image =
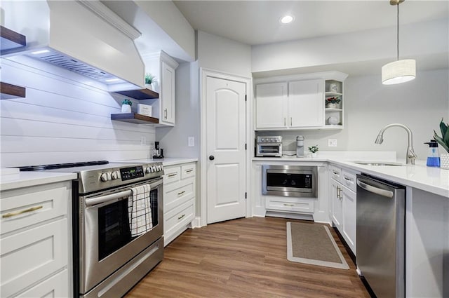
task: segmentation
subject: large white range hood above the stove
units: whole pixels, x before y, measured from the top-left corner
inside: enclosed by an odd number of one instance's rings
[[[2,1],[4,27],[27,36],[27,55],[105,84],[105,89],[144,88],[145,65],[133,42],[141,34],[100,1]]]

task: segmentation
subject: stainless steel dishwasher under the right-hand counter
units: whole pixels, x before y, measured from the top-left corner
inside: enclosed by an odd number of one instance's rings
[[[377,298],[405,297],[406,189],[357,175],[356,264]]]

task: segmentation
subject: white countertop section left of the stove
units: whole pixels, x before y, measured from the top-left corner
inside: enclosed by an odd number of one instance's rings
[[[78,176],[72,172],[19,172],[18,174],[1,175],[0,191],[74,180],[76,177]]]

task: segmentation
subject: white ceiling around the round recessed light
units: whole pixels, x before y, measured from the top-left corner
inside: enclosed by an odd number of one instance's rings
[[[396,25],[396,6],[376,1],[173,1],[194,29],[249,45]],[[295,20],[279,22],[283,15]],[[408,0],[400,24],[448,18],[449,1]]]

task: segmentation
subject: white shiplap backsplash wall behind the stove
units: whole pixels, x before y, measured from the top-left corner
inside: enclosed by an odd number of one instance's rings
[[[87,80],[31,58],[1,59],[1,81],[27,88],[27,97],[0,101],[0,166],[149,157],[154,126],[111,121],[123,95]]]

